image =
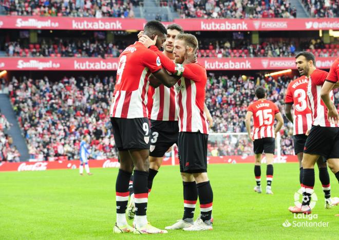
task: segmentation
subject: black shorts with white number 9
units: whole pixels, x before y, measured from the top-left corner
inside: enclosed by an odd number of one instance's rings
[[[119,151],[149,149],[150,129],[147,118],[110,118],[110,122]]]

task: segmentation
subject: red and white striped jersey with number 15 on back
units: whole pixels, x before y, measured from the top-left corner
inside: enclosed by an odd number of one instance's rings
[[[247,110],[253,113],[252,138],[274,138],[274,118],[279,113],[279,108],[269,100],[258,100],[252,103]]]

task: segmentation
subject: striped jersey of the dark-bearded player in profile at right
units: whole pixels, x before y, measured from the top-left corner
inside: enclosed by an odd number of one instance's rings
[[[307,96],[313,114],[313,125],[339,127],[339,124],[334,124],[328,121],[328,109],[321,98],[321,89],[327,78],[328,72],[315,69],[309,77]],[[330,91],[331,101],[334,102],[333,91]]]

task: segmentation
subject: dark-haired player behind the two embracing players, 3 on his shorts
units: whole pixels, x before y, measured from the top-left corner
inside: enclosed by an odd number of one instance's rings
[[[168,59],[175,60],[173,53],[174,41],[176,36],[180,33],[183,33],[183,29],[178,24],[171,24],[167,26],[167,38],[163,45],[163,53],[166,57],[168,57]],[[142,34],[143,32],[141,31],[138,36],[141,37]],[[153,76],[150,78],[153,78]],[[151,125],[150,130],[152,133],[149,149],[148,192],[150,192],[152,189],[154,177],[158,173],[165,152],[168,151],[168,149],[170,149],[173,144],[178,145],[179,135],[178,103],[176,100],[178,94],[175,90],[175,86],[168,88],[160,82],[158,82],[158,84],[159,87],[149,87],[151,92],[150,94],[154,100],[153,102],[149,101],[149,103],[152,105],[148,105],[151,112],[149,118]],[[206,105],[204,105],[204,113],[206,114],[209,121],[209,126],[211,127],[213,124],[213,119]],[[186,195],[185,192],[187,191],[197,192],[195,181],[185,184],[183,189],[184,196]],[[196,200],[198,198],[198,193],[193,198]],[[131,202],[129,202],[127,207],[127,215],[129,214],[129,209],[133,210],[133,204]],[[190,220],[184,217],[183,220]]]

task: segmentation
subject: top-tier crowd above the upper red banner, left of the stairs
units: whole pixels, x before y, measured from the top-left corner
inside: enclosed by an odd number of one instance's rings
[[[133,5],[138,0],[4,0],[8,15],[134,17]]]

